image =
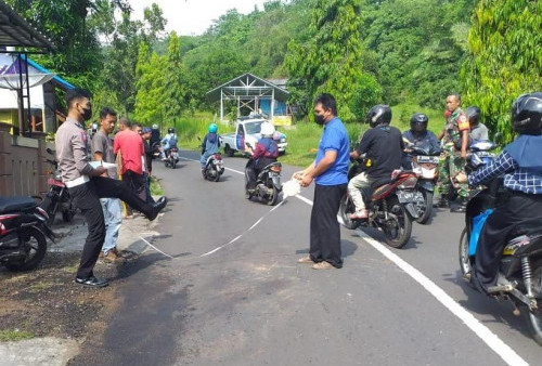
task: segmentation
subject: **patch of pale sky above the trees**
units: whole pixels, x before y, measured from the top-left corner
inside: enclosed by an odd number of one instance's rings
[[[263,10],[268,0],[130,0],[133,9],[132,18],[143,18],[143,9],[154,2],[163,11],[168,21],[166,30],[177,31],[179,36],[199,36],[220,15],[230,9],[236,9],[242,14],[248,14],[257,5]]]

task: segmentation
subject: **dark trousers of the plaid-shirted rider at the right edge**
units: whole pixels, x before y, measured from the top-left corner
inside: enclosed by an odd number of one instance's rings
[[[514,194],[498,205],[486,221],[476,248],[475,273],[482,290],[495,285],[503,248],[511,235],[518,227],[521,233],[540,227],[541,222],[542,195]]]

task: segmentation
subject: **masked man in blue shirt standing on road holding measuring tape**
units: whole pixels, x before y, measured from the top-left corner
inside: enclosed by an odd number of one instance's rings
[[[301,186],[315,183],[310,218],[309,256],[298,263],[310,263],[314,270],[340,269],[340,226],[337,212],[346,194],[350,143],[345,126],[337,117],[337,104],[331,94],[314,100],[314,120],[324,125],[315,160],[294,174]]]

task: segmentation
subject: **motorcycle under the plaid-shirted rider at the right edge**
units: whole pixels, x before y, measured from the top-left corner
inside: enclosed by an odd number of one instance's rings
[[[495,180],[490,187],[476,194],[467,204],[465,228],[460,238],[460,267],[463,278],[470,282],[473,265],[476,263],[476,244],[470,243],[474,219],[488,213],[495,202],[503,199],[501,181]],[[499,263],[500,276],[506,284],[492,286],[488,292],[496,300],[509,300],[514,314],[518,308],[525,309],[529,329],[534,341],[542,345],[542,230],[518,227],[514,237],[508,238]]]

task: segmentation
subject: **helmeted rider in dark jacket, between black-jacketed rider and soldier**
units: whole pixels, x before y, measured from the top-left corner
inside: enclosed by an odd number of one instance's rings
[[[410,130],[403,132],[403,141],[409,142],[414,146],[421,146],[428,151],[429,154],[437,154],[440,152],[440,144],[431,131],[427,130],[427,125],[429,123],[429,118],[423,113],[415,113],[410,118]],[[404,154],[403,167],[405,169],[412,169],[412,156],[409,153],[409,147],[406,146]]]

